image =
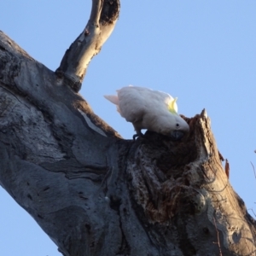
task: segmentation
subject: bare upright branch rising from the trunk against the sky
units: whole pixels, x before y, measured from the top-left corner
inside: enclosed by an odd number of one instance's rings
[[[119,17],[119,0],[92,0],[90,20],[67,49],[55,71],[63,82],[79,91],[90,60],[102,49]]]

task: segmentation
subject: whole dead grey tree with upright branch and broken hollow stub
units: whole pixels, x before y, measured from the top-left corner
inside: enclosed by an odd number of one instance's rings
[[[255,255],[203,111],[181,142],[125,141],[77,91],[119,1],[93,1],[56,73],[0,32],[0,184],[65,256]]]

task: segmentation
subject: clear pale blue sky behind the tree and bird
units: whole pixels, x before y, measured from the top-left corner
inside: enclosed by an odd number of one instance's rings
[[[55,70],[84,29],[90,4],[3,1],[0,30]],[[255,0],[123,0],[117,26],[91,61],[80,91],[96,114],[129,139],[132,125],[103,98],[125,85],[177,96],[179,113],[188,117],[206,108],[218,149],[230,161],[230,183],[254,212],[256,179],[250,161],[256,168],[255,12]],[[1,255],[61,255],[1,187],[0,201]]]

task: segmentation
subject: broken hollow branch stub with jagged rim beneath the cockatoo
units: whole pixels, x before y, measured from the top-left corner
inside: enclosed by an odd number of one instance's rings
[[[153,244],[177,241],[183,255],[254,255],[255,222],[230,185],[206,111],[186,121],[189,137],[180,142],[147,131],[131,146],[126,172],[137,215]]]

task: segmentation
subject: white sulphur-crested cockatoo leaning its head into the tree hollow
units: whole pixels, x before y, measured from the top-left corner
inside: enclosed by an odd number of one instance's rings
[[[133,138],[143,136],[142,129],[155,131],[176,140],[189,132],[189,125],[177,113],[177,98],[144,87],[126,86],[116,95],[104,96],[117,106],[117,111],[131,122],[137,132]]]

